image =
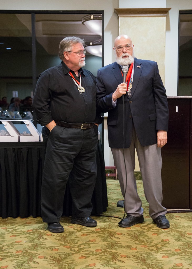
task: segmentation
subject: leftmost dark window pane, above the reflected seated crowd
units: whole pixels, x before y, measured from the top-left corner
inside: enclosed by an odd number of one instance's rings
[[[0,59],[0,99],[31,96],[31,14],[0,14]]]

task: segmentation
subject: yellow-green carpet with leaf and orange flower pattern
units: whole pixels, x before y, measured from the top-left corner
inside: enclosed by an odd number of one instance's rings
[[[148,215],[142,180],[137,180],[144,222],[118,226],[124,209],[119,182],[107,179],[108,210],[93,216],[97,227],[70,223],[64,233],[51,233],[40,217],[0,218],[0,268],[8,269],[191,269],[192,213],[167,214],[169,229],[159,229]]]

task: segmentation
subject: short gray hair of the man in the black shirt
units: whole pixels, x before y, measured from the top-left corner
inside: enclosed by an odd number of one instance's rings
[[[72,46],[77,43],[81,43],[84,46],[84,39],[81,39],[76,36],[69,36],[63,38],[63,40],[61,40],[59,44],[59,58],[63,60],[64,58],[63,52],[70,51],[72,49]]]

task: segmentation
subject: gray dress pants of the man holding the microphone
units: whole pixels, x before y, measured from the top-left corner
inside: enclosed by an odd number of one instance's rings
[[[167,213],[167,209],[161,205],[161,149],[157,147],[157,144],[145,147],[141,146],[134,126],[131,145],[129,148],[111,148],[123,197],[125,194],[125,212],[129,215],[133,215],[134,217],[139,217],[143,214],[141,199],[137,193],[136,178],[134,175],[135,149],[137,151],[141,170],[145,198],[149,203],[149,214],[152,219],[155,219],[159,215]]]

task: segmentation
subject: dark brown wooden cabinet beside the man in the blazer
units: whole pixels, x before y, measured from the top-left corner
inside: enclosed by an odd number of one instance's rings
[[[192,97],[168,97],[168,143],[162,153],[163,206],[192,211]]]

